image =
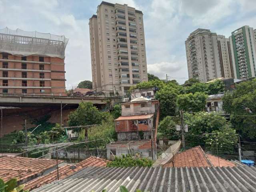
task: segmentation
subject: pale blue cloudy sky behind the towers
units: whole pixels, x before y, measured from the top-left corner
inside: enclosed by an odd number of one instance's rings
[[[65,35],[66,87],[92,80],[89,18],[100,0],[0,0],[0,28]],[[108,0],[144,14],[148,73],[161,79],[188,79],[185,40],[197,28],[231,35],[256,28],[256,0]]]

